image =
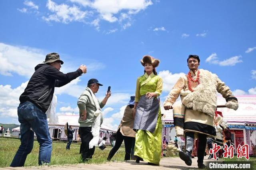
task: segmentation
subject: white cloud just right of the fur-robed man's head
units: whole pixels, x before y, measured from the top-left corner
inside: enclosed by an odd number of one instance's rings
[[[242,63],[242,58],[241,55],[236,55],[234,57],[230,57],[228,59],[225,59],[223,61],[219,61],[217,54],[216,53],[212,53],[205,61],[206,63],[210,63],[210,64],[217,64],[220,66],[234,66],[236,65],[236,63]]]

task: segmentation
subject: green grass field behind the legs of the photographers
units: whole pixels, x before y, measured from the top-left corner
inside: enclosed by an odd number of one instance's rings
[[[20,140],[16,138],[0,137],[0,167],[10,166],[18,147],[20,146]],[[103,163],[106,162],[108,153],[111,150],[111,146],[108,146],[104,150],[100,150],[96,147],[92,160],[88,163]],[[81,163],[79,154],[80,144],[72,143],[70,150],[66,150],[65,142],[53,142],[52,143],[52,158],[51,164],[77,164]],[[36,166],[38,165],[38,153],[39,144],[35,140],[34,148],[26,159],[24,166]],[[120,147],[118,152],[114,155],[112,160],[122,161],[124,160],[124,147]]]

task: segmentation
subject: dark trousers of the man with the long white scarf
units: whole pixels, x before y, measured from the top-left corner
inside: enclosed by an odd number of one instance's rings
[[[92,158],[92,155],[95,151],[95,146],[89,149],[89,142],[92,140],[92,127],[80,127],[80,138],[82,140],[81,151],[82,151],[82,160],[87,161]]]

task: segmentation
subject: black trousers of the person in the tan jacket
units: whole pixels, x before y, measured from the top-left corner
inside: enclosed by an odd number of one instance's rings
[[[123,136],[120,130],[116,132],[116,144],[115,146],[110,150],[108,154],[108,160],[111,160],[111,158],[114,156],[116,151],[120,148],[122,142],[124,141],[124,146],[125,146],[125,156],[124,160],[130,160],[131,159],[131,150],[132,150],[132,145],[135,143],[135,138],[130,137],[130,136]]]

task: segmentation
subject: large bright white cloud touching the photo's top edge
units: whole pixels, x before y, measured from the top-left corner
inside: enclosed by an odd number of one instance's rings
[[[88,20],[93,20],[90,24],[94,25],[98,31],[100,20],[106,20],[110,23],[118,21],[125,30],[132,24],[132,15],[153,4],[151,0],[69,0],[69,2],[79,4],[81,8],[89,11],[83,11],[74,4],[71,7],[68,4],[58,5],[52,0],[48,0],[46,6],[52,14],[42,18],[48,22],[55,21],[67,24],[72,21],[85,22],[84,19],[88,17]]]

